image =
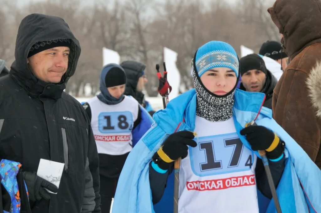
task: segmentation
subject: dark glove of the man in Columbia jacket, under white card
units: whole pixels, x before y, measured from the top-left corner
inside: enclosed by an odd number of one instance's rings
[[[58,188],[54,184],[39,177],[36,172],[24,171],[23,178],[27,185],[29,200],[33,202],[41,200],[41,198],[50,199],[50,193],[45,188],[54,193],[58,192]]]

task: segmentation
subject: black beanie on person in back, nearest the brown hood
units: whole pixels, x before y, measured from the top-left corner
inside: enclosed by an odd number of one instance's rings
[[[282,45],[277,41],[266,41],[262,44],[262,47],[259,51],[260,55],[264,55],[272,58],[273,60],[282,59],[288,57],[286,53],[283,51],[282,54]]]

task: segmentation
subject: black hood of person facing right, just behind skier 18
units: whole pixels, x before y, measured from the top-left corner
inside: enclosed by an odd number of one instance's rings
[[[142,99],[139,98],[141,95],[138,94],[136,91],[138,79],[142,76],[143,71],[146,68],[145,64],[139,63],[137,61],[124,61],[120,64],[126,72],[127,82],[126,82],[126,89],[125,95],[133,96],[136,100]],[[138,97],[139,96],[139,97]],[[141,101],[137,100],[140,104]]]

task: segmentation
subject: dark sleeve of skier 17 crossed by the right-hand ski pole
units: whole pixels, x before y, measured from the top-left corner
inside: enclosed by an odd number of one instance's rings
[[[277,185],[279,184],[280,179],[282,177],[282,173],[284,170],[284,161],[285,161],[284,156],[281,160],[279,160],[277,162],[273,162],[273,161],[269,160],[269,167],[271,170],[273,183],[274,183],[275,187],[277,187]],[[267,180],[265,168],[264,168],[263,162],[260,158],[257,158],[256,167],[255,167],[255,175],[256,175],[257,189],[260,190],[260,192],[262,192],[262,194],[265,197],[272,199],[272,192],[270,190],[269,182]]]

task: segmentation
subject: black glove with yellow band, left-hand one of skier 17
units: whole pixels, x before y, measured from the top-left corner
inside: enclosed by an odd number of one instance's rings
[[[164,141],[160,149],[154,154],[153,161],[161,169],[168,169],[171,162],[178,158],[186,158],[188,146],[196,147],[197,143],[193,141],[193,132],[181,131],[175,132]]]

